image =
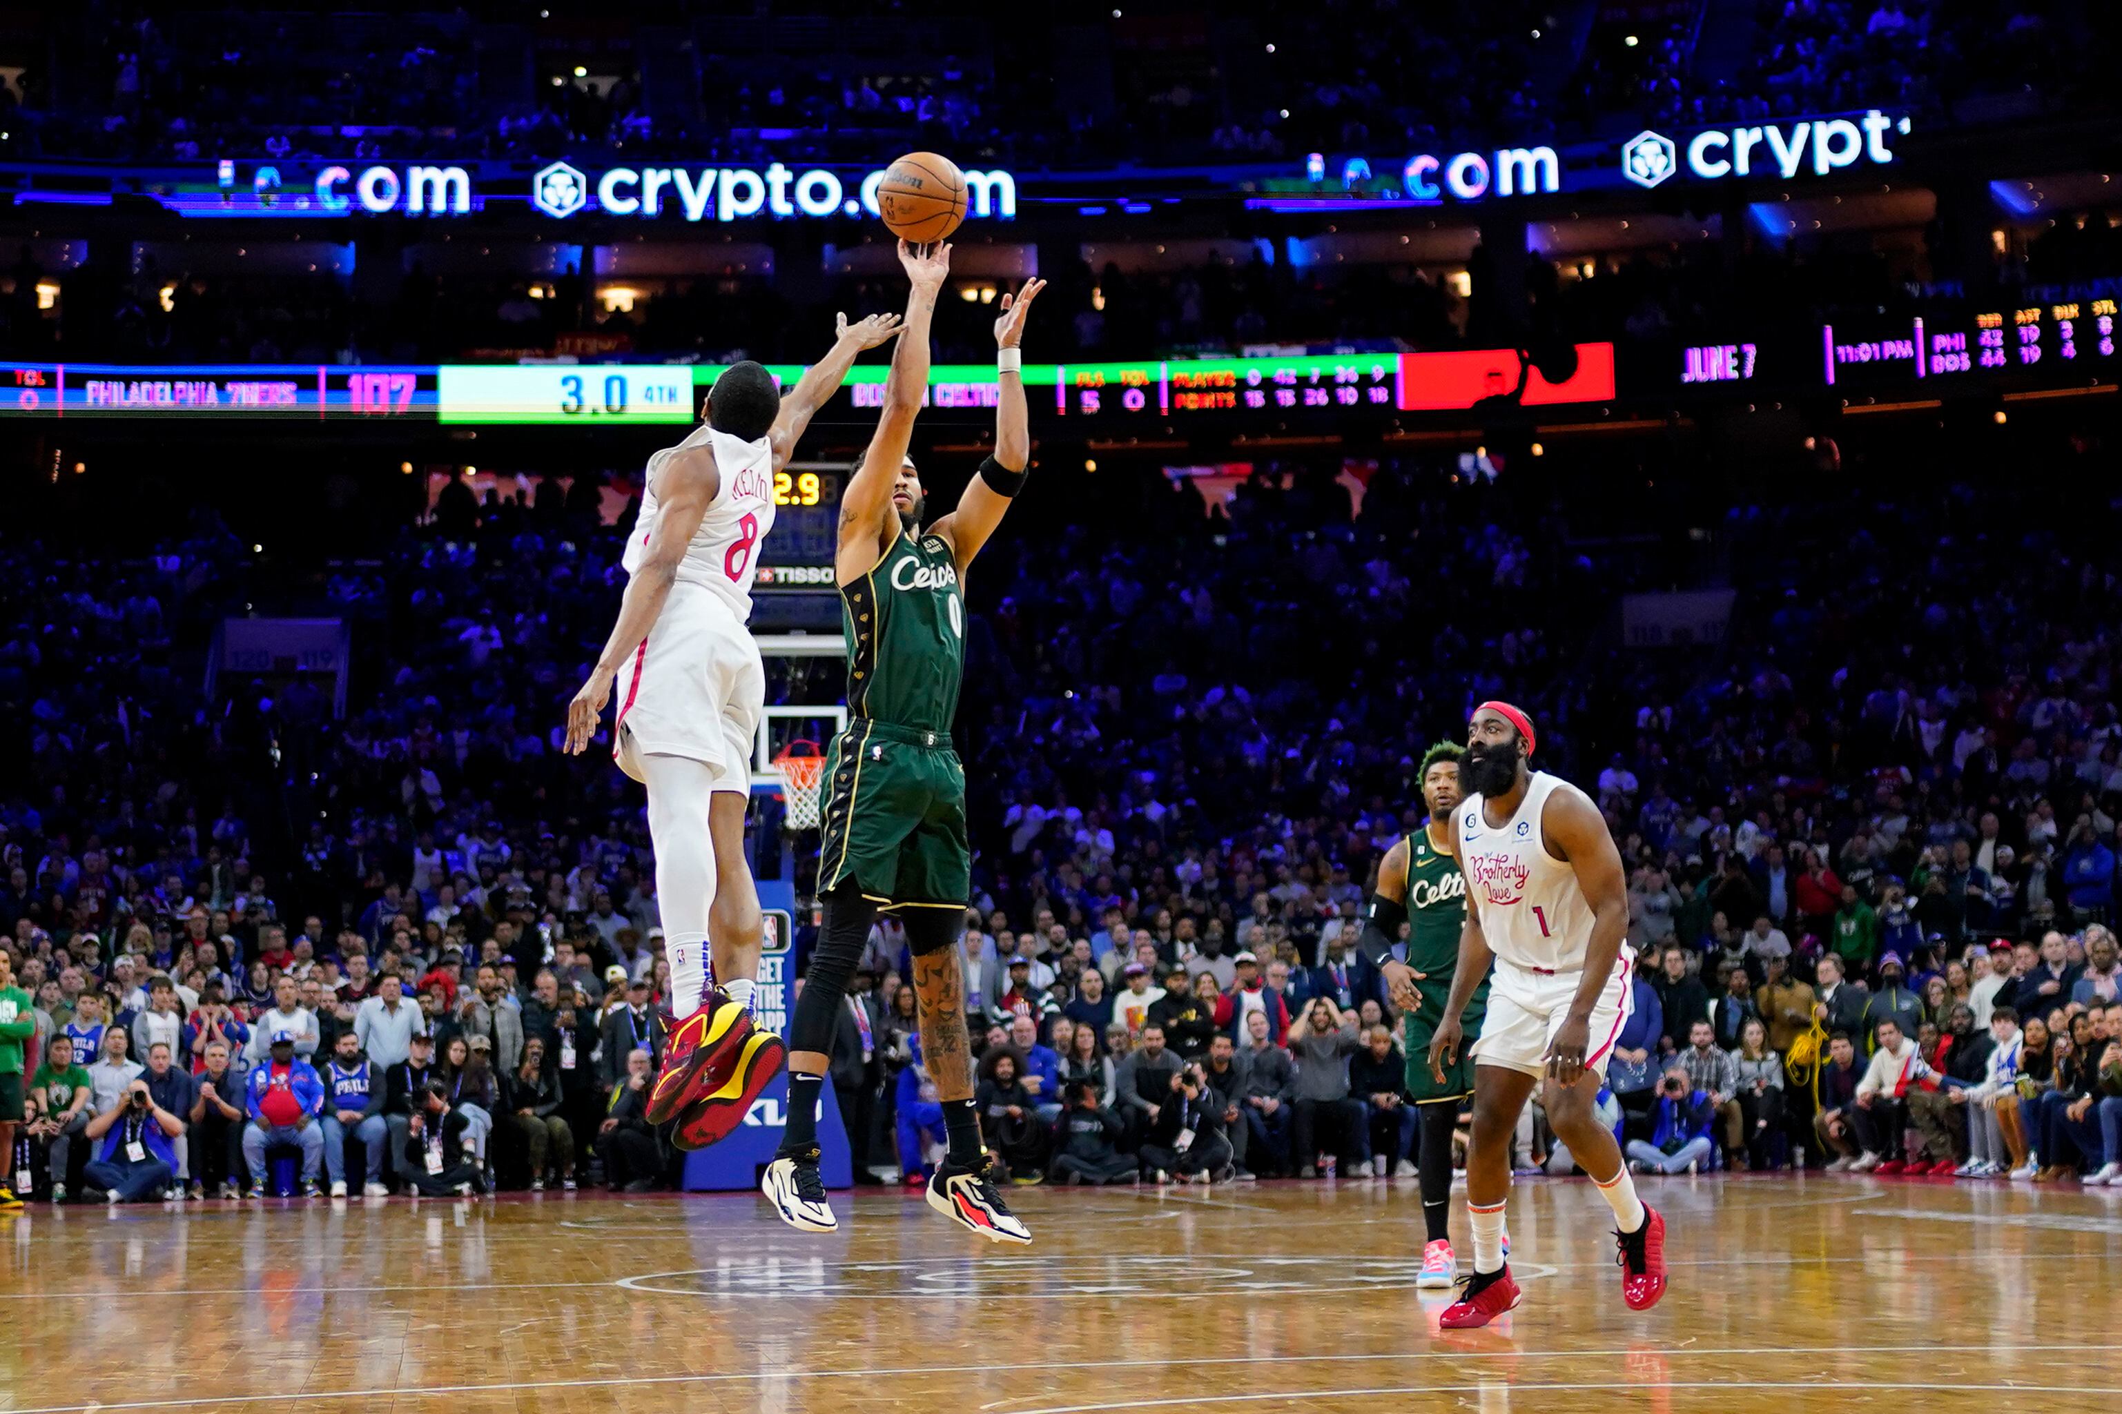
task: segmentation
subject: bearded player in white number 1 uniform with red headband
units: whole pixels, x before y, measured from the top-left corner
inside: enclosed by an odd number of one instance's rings
[[[1458,1060],[1464,1011],[1490,960],[1496,965],[1481,1039],[1471,1047],[1473,1274],[1439,1316],[1447,1329],[1488,1325],[1517,1306],[1517,1283],[1502,1255],[1511,1132],[1543,1077],[1547,1124],[1613,1208],[1621,1300],[1630,1310],[1649,1310],[1666,1293],[1666,1219],[1636,1198],[1621,1147],[1592,1109],[1632,1009],[1636,950],[1623,939],[1621,852],[1592,797],[1532,770],[1534,740],[1532,721],[1515,706],[1475,708],[1464,759],[1473,793],[1449,814],[1445,831],[1466,873],[1468,907],[1451,994],[1430,1035],[1430,1075],[1439,1085]]]

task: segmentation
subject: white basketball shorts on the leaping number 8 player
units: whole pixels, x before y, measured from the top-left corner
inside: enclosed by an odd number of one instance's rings
[[[615,689],[611,755],[622,772],[645,782],[641,757],[690,757],[715,772],[715,791],[751,791],[766,668],[751,632],[711,589],[671,585]]]

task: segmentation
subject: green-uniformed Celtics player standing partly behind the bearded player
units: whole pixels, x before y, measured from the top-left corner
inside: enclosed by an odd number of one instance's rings
[[[1445,1013],[1458,967],[1460,933],[1466,924],[1466,876],[1451,856],[1451,810],[1460,803],[1460,759],[1466,748],[1439,742],[1422,755],[1422,801],[1428,823],[1386,850],[1377,865],[1362,929],[1364,958],[1386,977],[1392,1005],[1401,1009],[1407,1035],[1407,1092],[1422,1117],[1415,1164],[1422,1170],[1422,1249],[1417,1287],[1449,1287],[1458,1278],[1451,1253],[1451,1132],[1458,1107],[1473,1094],[1473,1060],[1456,1058],[1443,1079],[1430,1075],[1430,1032]],[[1394,960],[1392,943],[1407,931],[1407,960]],[[1462,1026],[1479,1028],[1488,1005],[1488,977],[1466,1001]]]

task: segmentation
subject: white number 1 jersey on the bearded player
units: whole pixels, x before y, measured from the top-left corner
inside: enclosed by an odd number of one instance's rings
[[[1547,852],[1541,812],[1547,797],[1577,786],[1534,772],[1517,814],[1500,827],[1483,818],[1479,795],[1458,808],[1460,867],[1466,901],[1479,909],[1481,935],[1504,962],[1547,973],[1583,971],[1592,941],[1592,905],[1577,871]]]

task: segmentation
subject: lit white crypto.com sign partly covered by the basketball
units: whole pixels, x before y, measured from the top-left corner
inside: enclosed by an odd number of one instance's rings
[[[876,216],[876,184],[885,172],[866,174],[849,189],[838,172],[792,172],[779,161],[755,167],[605,167],[592,178],[569,161],[554,161],[530,178],[530,206],[554,218],[596,210],[607,216],[683,220],[749,220],[770,216]],[[1008,172],[966,174],[966,214],[1016,216],[1016,178]]]

